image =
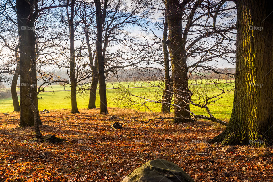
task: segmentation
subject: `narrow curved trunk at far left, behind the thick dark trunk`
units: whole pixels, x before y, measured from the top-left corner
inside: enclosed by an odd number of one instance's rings
[[[18,50],[19,44],[16,47],[16,50]],[[20,105],[18,101],[17,96],[17,81],[20,74],[20,57],[18,56],[18,53],[15,51],[15,59],[16,59],[16,70],[14,72],[12,81],[11,81],[11,97],[13,102],[13,110],[14,111],[20,111]]]

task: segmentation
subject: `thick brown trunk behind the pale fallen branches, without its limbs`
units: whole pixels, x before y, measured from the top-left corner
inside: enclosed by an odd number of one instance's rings
[[[182,8],[177,0],[166,0],[167,20],[169,26],[169,52],[171,57],[172,78],[174,88],[174,117],[173,123],[189,122],[191,115],[183,110],[190,110],[190,91],[188,88],[188,67],[182,36]],[[179,107],[178,107],[179,106]],[[181,108],[182,109],[181,109]]]

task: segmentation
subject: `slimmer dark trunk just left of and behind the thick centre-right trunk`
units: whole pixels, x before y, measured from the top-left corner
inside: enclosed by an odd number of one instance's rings
[[[169,66],[169,52],[167,49],[167,33],[168,33],[168,19],[167,19],[167,13],[165,11],[165,22],[164,22],[164,28],[163,28],[163,38],[162,38],[162,48],[163,48],[163,54],[164,54],[164,72],[165,72],[165,89],[162,96],[162,106],[161,106],[161,112],[162,113],[170,113],[171,112],[171,103],[172,100],[172,93],[171,93],[171,78],[170,78],[170,66]]]

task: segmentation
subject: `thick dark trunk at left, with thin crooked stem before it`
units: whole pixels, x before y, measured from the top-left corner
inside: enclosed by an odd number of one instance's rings
[[[31,103],[28,99],[28,88],[30,87],[30,79],[33,80],[32,100],[38,110],[38,98],[37,98],[37,75],[36,75],[36,63],[31,65],[32,73],[29,75],[30,61],[36,57],[35,52],[35,32],[34,32],[34,20],[30,5],[27,1],[16,0],[17,8],[17,22],[19,32],[19,50],[20,53],[20,126],[34,126],[34,114],[31,109]],[[40,115],[36,116],[38,123],[42,124]]]

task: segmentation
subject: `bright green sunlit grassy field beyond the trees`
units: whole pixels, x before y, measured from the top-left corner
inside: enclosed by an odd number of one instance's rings
[[[229,80],[231,81],[231,80]],[[229,82],[228,81],[228,82]],[[232,80],[233,81],[233,80]],[[225,82],[225,81],[224,81]],[[155,83],[158,84],[158,83]],[[226,89],[231,89],[232,85],[234,83],[229,83],[229,84],[220,84],[222,88]],[[127,83],[122,83],[123,86],[128,87]],[[115,87],[118,87],[119,84],[115,84]],[[158,96],[157,89],[158,88],[141,88],[140,83],[136,84],[137,88],[128,88],[128,90],[136,95],[145,95],[146,97],[151,97],[151,98],[160,98]],[[142,86],[147,86],[145,84],[142,84]],[[149,85],[151,86],[151,85]],[[134,84],[131,83],[129,84],[129,87],[134,87]],[[119,98],[122,98],[123,95],[121,93],[118,93],[120,89],[111,89],[113,86],[111,84],[107,84],[107,103],[108,107],[123,107],[121,104],[117,104],[117,100]],[[39,99],[38,104],[39,104],[39,110],[47,109],[47,110],[54,110],[54,109],[69,109],[71,108],[71,102],[70,102],[70,88],[66,87],[64,91],[64,88],[60,85],[52,85],[51,87],[45,88],[46,92],[41,92],[39,94],[39,97],[43,97],[44,99]],[[203,84],[203,81],[198,81],[192,84],[191,89],[194,89],[197,94],[196,96],[193,97],[193,100],[199,100],[202,99],[202,94],[206,90],[208,92],[209,96],[216,95],[219,92],[215,88],[214,85],[205,85]],[[54,90],[54,92],[53,92]],[[79,109],[84,109],[87,108],[88,106],[88,100],[89,100],[89,94],[82,94],[81,96],[79,95],[77,97],[77,103],[78,103],[78,108]],[[229,121],[231,111],[232,111],[232,104],[233,104],[233,92],[228,92],[223,94],[223,98],[218,100],[215,103],[209,104],[210,111],[213,113],[213,115],[216,118],[222,119],[224,121]],[[153,112],[159,112],[161,109],[161,105],[157,103],[148,103],[146,104],[149,109],[151,109]],[[99,102],[99,93],[97,91],[97,99],[96,99],[96,106],[100,107],[100,102]],[[131,108],[133,109],[138,109],[140,105],[131,105]],[[191,106],[191,110],[194,111],[197,114],[206,114],[204,109],[200,109],[198,107],[193,107]],[[5,98],[5,99],[0,99],[0,112],[12,112],[13,111],[13,104],[12,104],[12,99],[11,98]],[[140,111],[146,111],[150,112],[147,108],[141,107]],[[206,114],[207,115],[207,114]]]

